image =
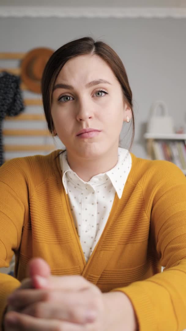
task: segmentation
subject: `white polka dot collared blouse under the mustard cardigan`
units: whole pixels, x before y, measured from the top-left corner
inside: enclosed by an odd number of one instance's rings
[[[116,166],[93,176],[89,182],[83,181],[70,168],[66,151],[59,159],[63,186],[87,262],[107,223],[115,194],[119,199],[122,196],[131,169],[130,152],[119,147]]]

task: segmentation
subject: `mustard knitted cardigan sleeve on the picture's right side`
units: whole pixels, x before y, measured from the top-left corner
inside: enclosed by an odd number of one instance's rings
[[[144,193],[150,235],[164,270],[113,289],[130,298],[142,331],[186,329],[186,178],[177,166],[164,165],[157,169],[161,180],[151,196]]]

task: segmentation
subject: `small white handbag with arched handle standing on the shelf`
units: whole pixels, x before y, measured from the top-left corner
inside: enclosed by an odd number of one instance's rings
[[[157,115],[158,108],[162,108],[162,114]],[[163,101],[156,101],[152,104],[150,118],[147,123],[147,132],[174,133],[173,118],[168,114],[167,105]]]

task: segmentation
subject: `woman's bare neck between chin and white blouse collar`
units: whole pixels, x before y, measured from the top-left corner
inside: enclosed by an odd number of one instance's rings
[[[88,182],[93,176],[99,173],[105,173],[106,171],[112,169],[118,162],[118,149],[112,153],[109,151],[96,158],[83,158],[71,155],[67,151],[67,161],[70,168],[77,173],[77,175]]]

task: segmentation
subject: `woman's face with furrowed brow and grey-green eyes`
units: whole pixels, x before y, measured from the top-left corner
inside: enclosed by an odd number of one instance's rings
[[[67,153],[89,159],[117,149],[123,121],[131,118],[118,80],[96,55],[67,61],[56,78],[51,114]],[[87,128],[92,132],[78,134]]]

